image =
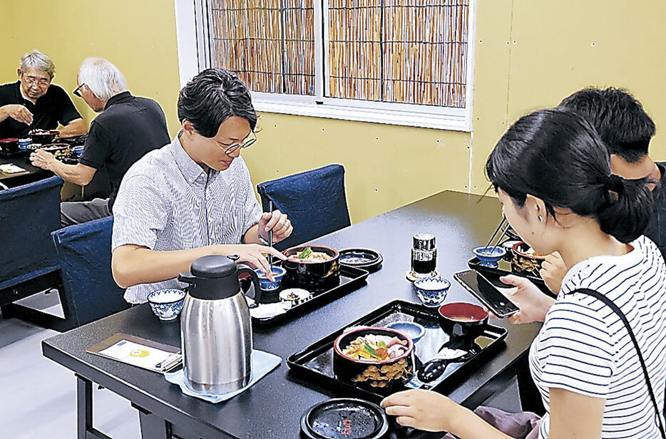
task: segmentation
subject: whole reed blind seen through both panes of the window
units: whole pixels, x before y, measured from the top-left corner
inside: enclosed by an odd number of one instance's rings
[[[208,0],[213,66],[253,91],[314,95],[314,1]],[[323,4],[324,96],[465,108],[469,0]]]

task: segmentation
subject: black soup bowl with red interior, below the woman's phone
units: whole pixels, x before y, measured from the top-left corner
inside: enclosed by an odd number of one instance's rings
[[[449,302],[439,307],[439,326],[452,339],[473,340],[488,325],[488,311],[468,302]]]

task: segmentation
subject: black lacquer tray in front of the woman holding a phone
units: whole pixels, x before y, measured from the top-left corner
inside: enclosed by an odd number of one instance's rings
[[[503,339],[506,338],[507,334],[506,329],[492,325],[486,326],[483,334],[474,340],[473,347],[470,346],[473,350],[473,355],[467,356],[466,361],[449,363],[444,373],[430,383],[422,383],[416,378],[416,374],[414,374],[414,378],[404,388],[391,388],[390,391],[384,392],[382,389],[370,391],[354,386],[351,383],[339,381],[333,373],[333,343],[335,339],[345,329],[352,326],[384,326],[392,321],[415,321],[426,329],[426,334],[415,344],[417,370],[421,364],[434,358],[442,347],[461,348],[462,350],[469,351],[469,348],[465,346],[453,346],[449,344],[449,334],[446,334],[441,329],[441,326],[439,326],[437,309],[396,300],[325,336],[302,351],[294,353],[287,358],[287,365],[291,368],[291,373],[297,374],[307,381],[312,381],[320,386],[331,388],[336,393],[339,393],[340,396],[353,395],[379,403],[388,394],[408,388],[437,388],[438,390],[446,388],[453,384],[457,377],[474,371],[479,362],[483,361],[483,358],[487,358],[494,349],[503,345]]]

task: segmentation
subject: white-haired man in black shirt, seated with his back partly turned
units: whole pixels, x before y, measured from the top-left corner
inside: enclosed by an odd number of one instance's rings
[[[77,165],[65,165],[51,153],[36,150],[31,154],[33,165],[51,170],[76,185],[88,185],[101,167],[108,170],[111,195],[103,200],[63,202],[63,226],[108,217],[118,194],[123,175],[145,153],[170,143],[166,119],[155,100],[130,94],[121,71],[103,58],[83,61],[74,91],[98,115]]]

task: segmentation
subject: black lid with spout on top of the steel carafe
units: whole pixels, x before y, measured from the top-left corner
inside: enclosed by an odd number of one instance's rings
[[[188,293],[195,299],[216,300],[235,296],[240,291],[236,263],[226,256],[210,254],[200,257],[181,273],[178,280],[187,282]]]

